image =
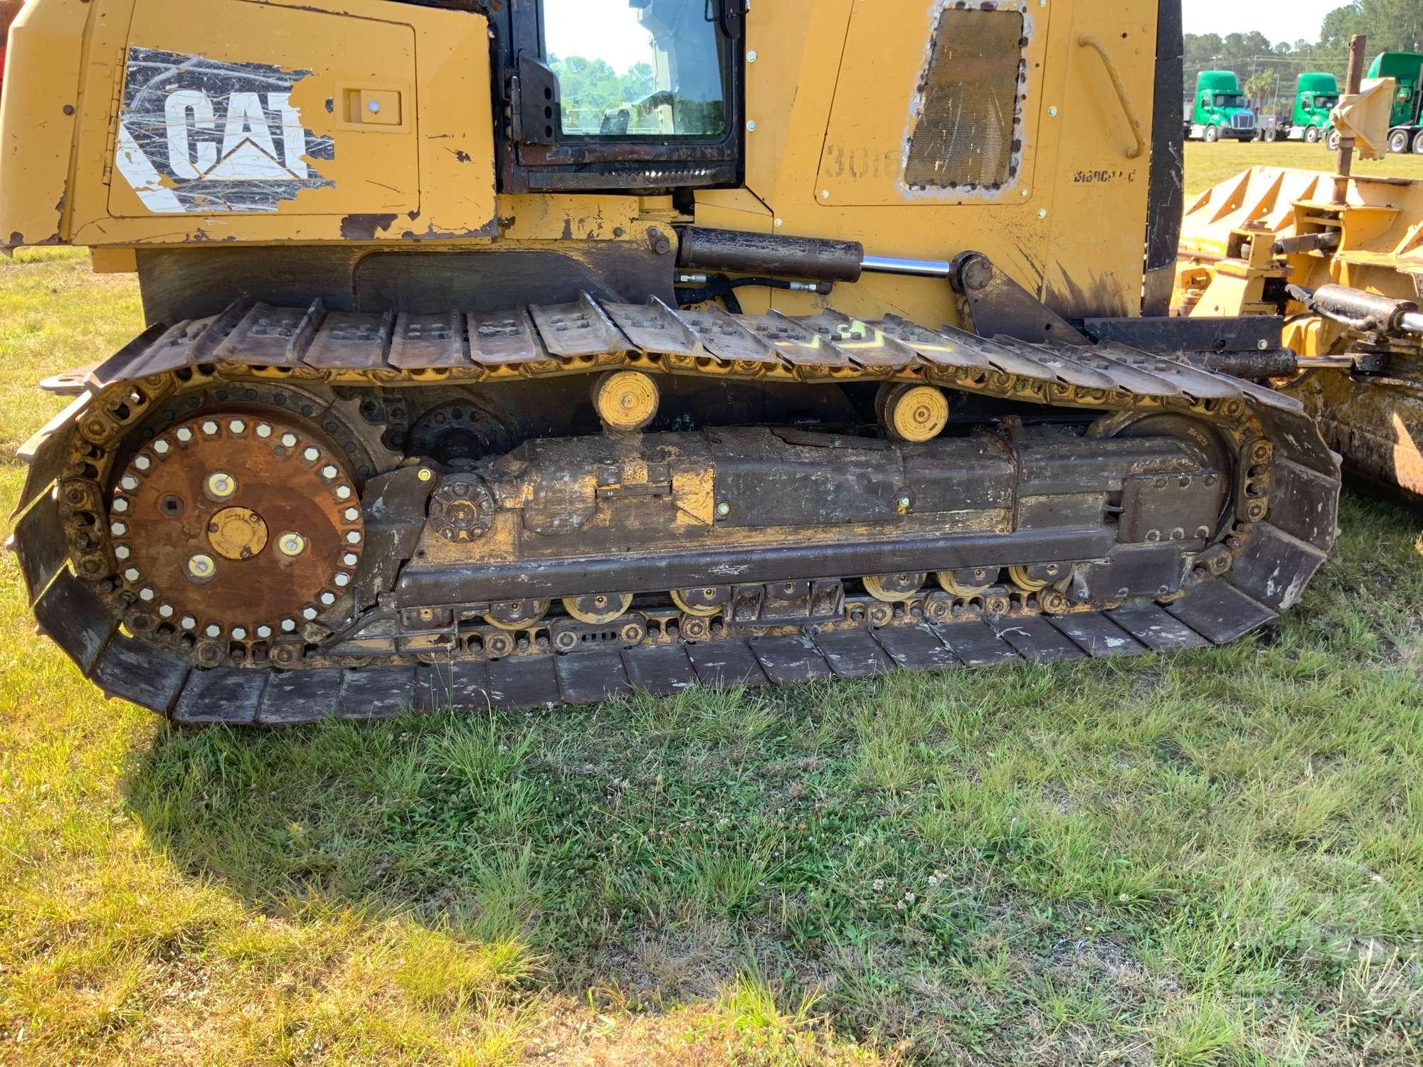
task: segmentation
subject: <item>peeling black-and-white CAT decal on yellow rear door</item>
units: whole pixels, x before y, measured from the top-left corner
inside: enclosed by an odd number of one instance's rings
[[[115,168],[155,215],[275,212],[302,189],[334,188],[336,158],[292,105],[309,70],[128,50]]]

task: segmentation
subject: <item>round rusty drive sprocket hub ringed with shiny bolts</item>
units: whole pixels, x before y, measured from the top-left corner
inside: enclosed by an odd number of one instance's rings
[[[120,596],[196,642],[297,635],[347,592],[364,551],[340,450],[248,411],[178,423],[120,474],[108,514]]]

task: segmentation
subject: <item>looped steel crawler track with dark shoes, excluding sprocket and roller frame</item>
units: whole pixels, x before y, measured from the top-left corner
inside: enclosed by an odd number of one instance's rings
[[[845,596],[831,625],[763,627],[702,627],[677,610],[649,610],[636,615],[638,633],[626,640],[569,653],[536,625],[515,626],[507,644],[491,647],[457,636],[444,653],[363,657],[347,644],[342,654],[289,660],[248,654],[255,639],[243,635],[242,656],[211,663],[132,625],[144,605],[115,556],[111,509],[125,492],[118,481],[138,447],[134,434],[165,401],[203,388],[340,396],[616,368],[760,383],[925,383],[1123,424],[1183,415],[1228,445],[1231,514],[1180,588],[1090,605],[1027,588],[941,590],[895,605]],[[764,686],[1228,643],[1298,602],[1333,545],[1339,495],[1338,457],[1296,401],[1177,360],[1121,346],[983,339],[894,317],[733,316],[588,296],[492,314],[233,304],[135,339],[91,373],[85,393],[21,455],[30,467],[13,548],[40,627],[107,693],[182,723],[522,708],[632,689],[666,694],[697,683]],[[351,532],[370,518],[351,512]],[[313,603],[310,617],[343,612],[351,612],[349,593],[333,589],[332,603]]]

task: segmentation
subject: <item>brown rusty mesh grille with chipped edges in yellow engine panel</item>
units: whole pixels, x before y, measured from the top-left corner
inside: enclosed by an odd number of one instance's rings
[[[919,87],[905,184],[995,188],[1017,171],[1023,14],[945,9]]]

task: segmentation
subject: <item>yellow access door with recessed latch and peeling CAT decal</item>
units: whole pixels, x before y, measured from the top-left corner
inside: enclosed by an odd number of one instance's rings
[[[112,218],[420,209],[408,26],[139,0],[124,68]]]

